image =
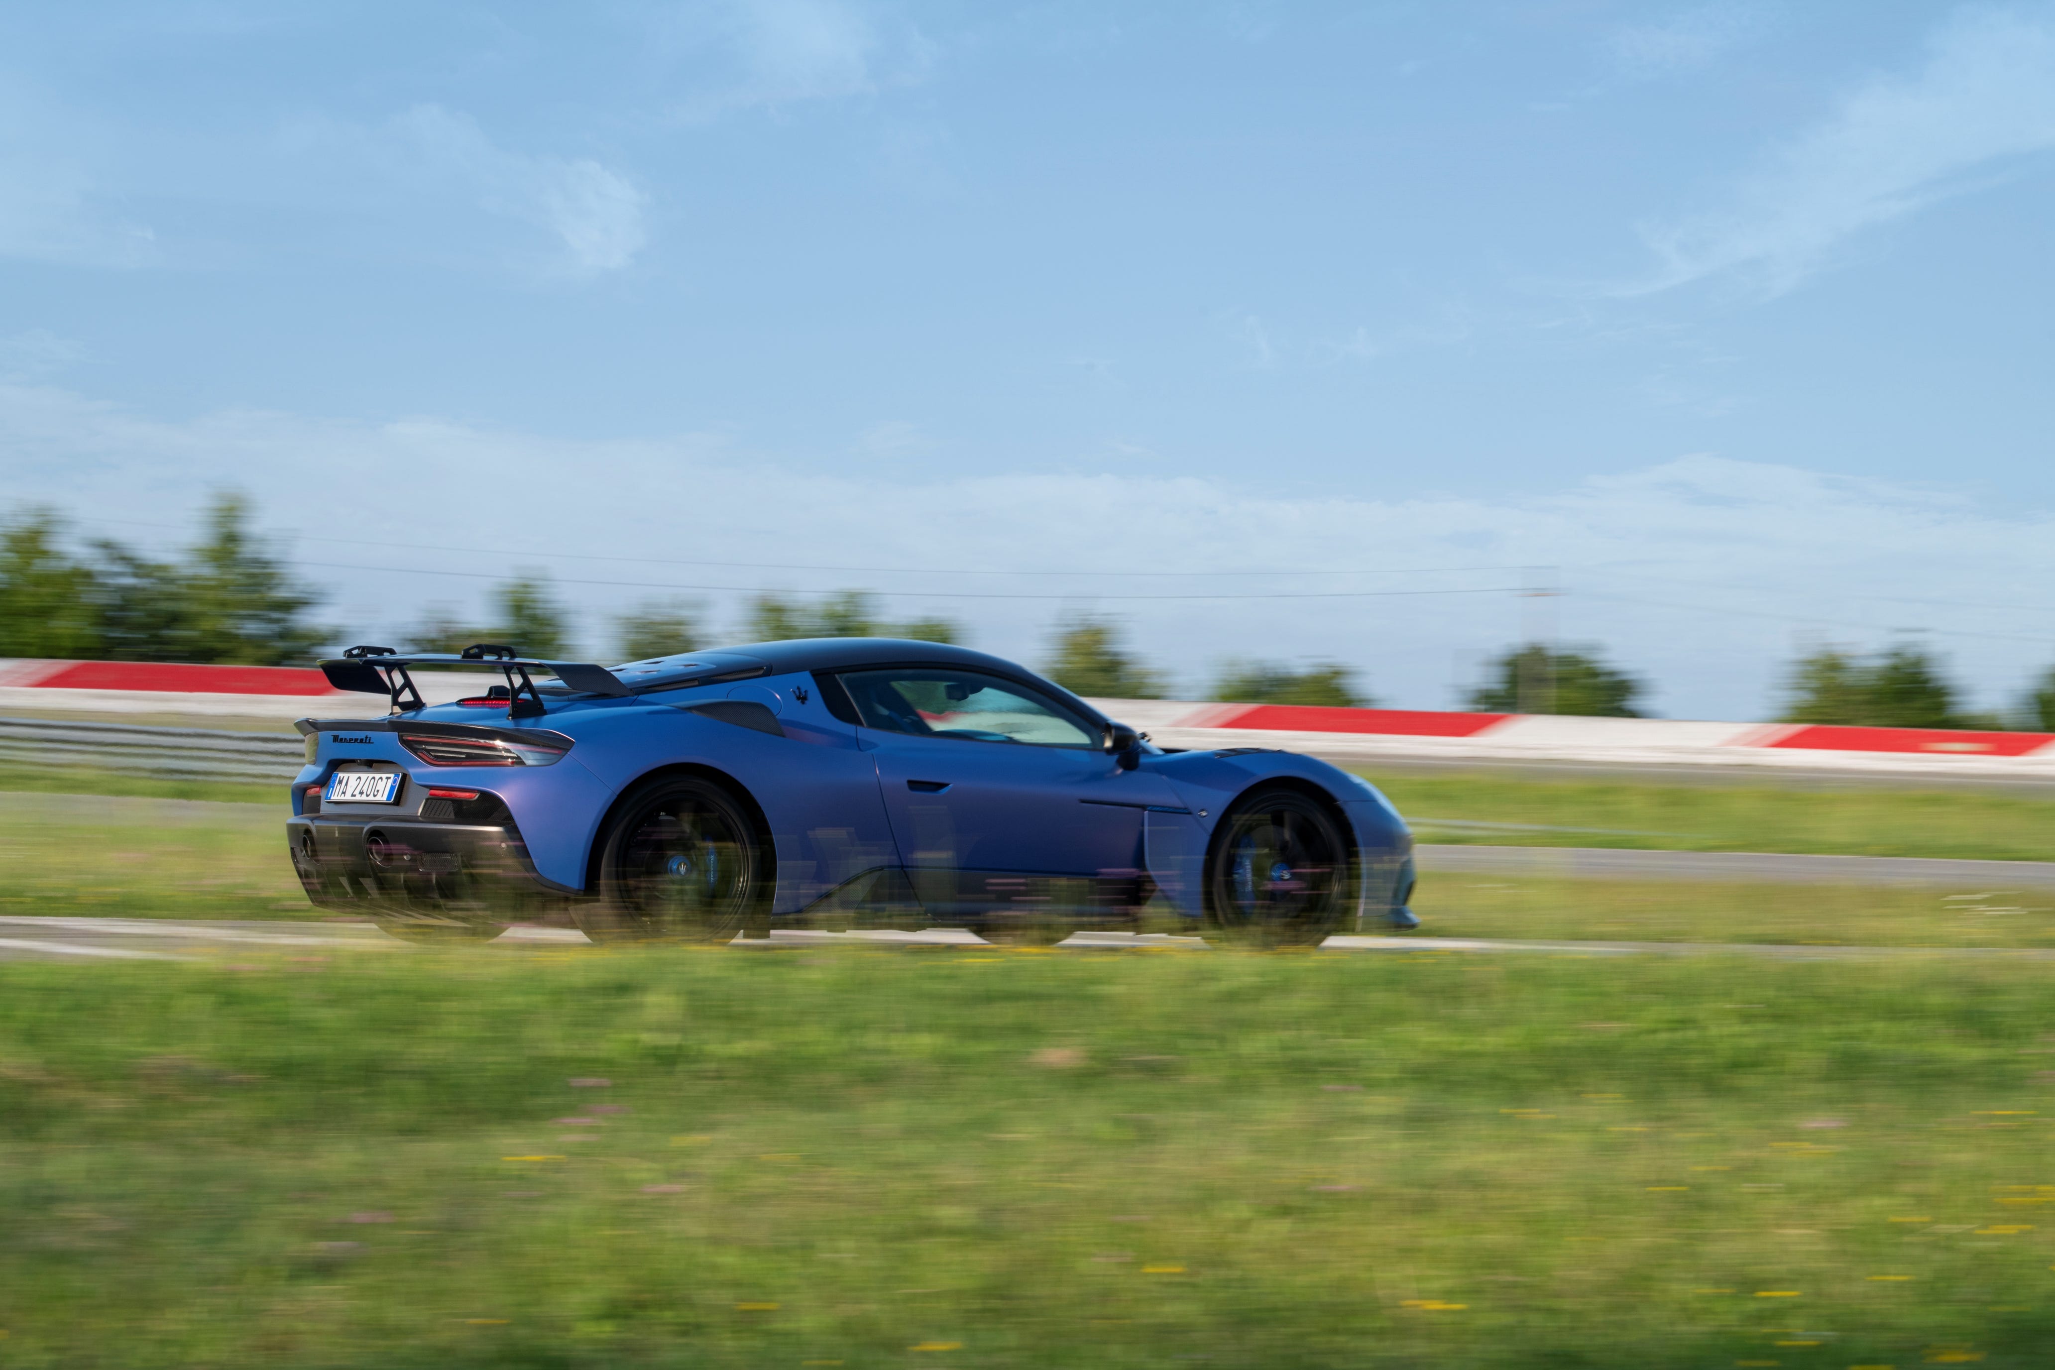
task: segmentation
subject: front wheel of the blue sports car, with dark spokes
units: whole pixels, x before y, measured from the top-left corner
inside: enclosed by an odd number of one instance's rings
[[[1356,900],[1340,820],[1297,789],[1260,789],[1221,815],[1206,850],[1206,930],[1249,947],[1317,947]]]

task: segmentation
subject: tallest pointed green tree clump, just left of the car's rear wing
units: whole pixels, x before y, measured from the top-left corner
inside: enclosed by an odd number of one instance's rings
[[[284,665],[314,655],[329,629],[306,620],[314,596],[249,528],[242,495],[216,495],[183,561],[97,542],[101,651],[115,661]]]

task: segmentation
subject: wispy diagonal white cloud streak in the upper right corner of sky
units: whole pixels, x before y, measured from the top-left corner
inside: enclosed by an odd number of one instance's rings
[[[2055,14],[1963,10],[1911,76],[1876,76],[1714,214],[1644,230],[1662,267],[1621,294],[1734,273],[1796,286],[1847,238],[1989,185],[2055,148]]]

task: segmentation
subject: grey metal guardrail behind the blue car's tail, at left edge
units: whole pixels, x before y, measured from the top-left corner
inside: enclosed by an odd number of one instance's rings
[[[0,719],[0,762],[37,768],[286,785],[304,756],[306,744],[292,733]]]

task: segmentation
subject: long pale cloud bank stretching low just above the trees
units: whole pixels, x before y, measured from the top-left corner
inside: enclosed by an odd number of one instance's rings
[[[329,587],[331,620],[364,633],[543,565],[596,653],[610,616],[643,598],[703,596],[732,624],[752,589],[869,587],[892,612],[958,616],[980,647],[1030,661],[1064,608],[1097,606],[1124,616],[1186,688],[1223,655],[1328,655],[1362,668],[1389,702],[1447,707],[1465,663],[1523,631],[1519,567],[1560,567],[1564,639],[1605,643],[1658,684],[1665,713],[1743,719],[1769,705],[1806,631],[1878,645],[1893,629],[1932,629],[1989,705],[2047,665],[2055,641],[2055,608],[2016,608],[2055,581],[2055,513],[1714,456],[1500,497],[1381,499],[1369,481],[1282,495],[1268,458],[1251,458],[1241,483],[1007,472],[894,483],[781,466],[717,435],[563,442],[261,411],[164,421],[23,384],[0,386],[0,452],[8,499],[138,520],[95,532],[171,544],[185,526],[148,524],[189,518],[212,489],[236,485],[267,522],[347,538],[302,540],[296,555]],[[349,499],[345,522],[323,511],[337,497]],[[442,550],[503,546],[493,530],[510,528],[522,540],[503,553]],[[892,571],[904,567],[927,571]],[[1159,575],[1272,569],[1362,573]],[[1993,596],[1993,585],[2020,589]],[[1389,589],[1478,594],[1122,598]]]

